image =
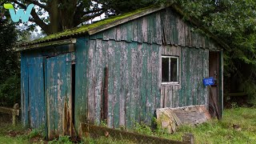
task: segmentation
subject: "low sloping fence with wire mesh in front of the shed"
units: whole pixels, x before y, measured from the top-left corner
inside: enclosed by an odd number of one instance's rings
[[[185,134],[182,137],[182,142],[174,141],[166,138],[158,138],[154,136],[144,135],[144,134],[137,134],[132,133],[124,130],[115,130],[103,126],[94,126],[86,123],[82,123],[82,135],[84,136],[92,136],[92,137],[98,137],[98,136],[106,136],[111,138],[117,138],[117,139],[127,139],[133,142],[138,143],[174,143],[174,144],[186,144],[186,143],[194,143],[194,137],[193,134]]]

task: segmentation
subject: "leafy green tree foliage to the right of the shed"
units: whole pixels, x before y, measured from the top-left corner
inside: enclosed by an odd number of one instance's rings
[[[252,0],[176,0],[186,18],[198,22],[226,42],[231,50],[224,50],[225,85],[236,79],[255,101],[256,91],[256,2]],[[249,87],[248,87],[249,86]],[[236,87],[233,88],[235,90]],[[226,91],[228,93],[228,91]],[[255,102],[254,102],[255,103]]]

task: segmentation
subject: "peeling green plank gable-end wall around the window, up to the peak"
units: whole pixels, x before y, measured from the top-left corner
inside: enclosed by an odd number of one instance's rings
[[[202,78],[209,75],[209,50],[220,47],[170,8],[91,35],[86,47],[86,118],[91,122],[102,120],[106,67],[110,127],[149,123],[159,107],[207,105]],[[179,57],[178,85],[161,84],[162,55]]]

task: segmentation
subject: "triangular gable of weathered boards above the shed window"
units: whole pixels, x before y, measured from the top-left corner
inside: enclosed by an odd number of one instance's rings
[[[190,22],[185,22],[170,7],[91,35],[90,39],[220,50],[220,47],[211,38],[208,38],[206,34],[199,34]]]

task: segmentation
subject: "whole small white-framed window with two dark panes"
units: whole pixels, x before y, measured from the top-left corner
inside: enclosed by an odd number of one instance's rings
[[[178,84],[178,57],[162,56],[162,83]]]

